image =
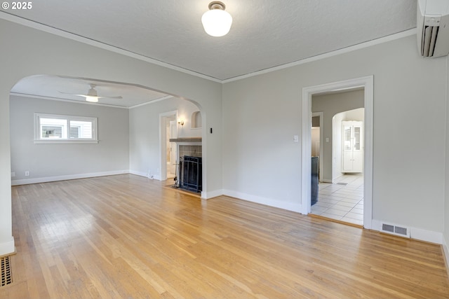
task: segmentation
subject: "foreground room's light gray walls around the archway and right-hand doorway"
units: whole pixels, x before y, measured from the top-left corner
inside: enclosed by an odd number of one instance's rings
[[[9,92],[35,74],[133,83],[196,102],[208,197],[293,210],[301,202],[301,143],[293,135],[302,132],[302,88],[373,75],[373,218],[448,239],[448,58],[422,59],[415,38],[222,85],[0,20],[0,255],[14,248]]]

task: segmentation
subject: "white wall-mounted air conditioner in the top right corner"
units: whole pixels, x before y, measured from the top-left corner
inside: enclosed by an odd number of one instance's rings
[[[417,43],[422,57],[449,54],[449,1],[418,0]]]

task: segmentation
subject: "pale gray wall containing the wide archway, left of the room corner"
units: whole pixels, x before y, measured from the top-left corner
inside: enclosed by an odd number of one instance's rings
[[[105,50],[80,37],[67,39],[25,25],[11,15],[0,19],[0,255],[14,250],[11,220],[11,152],[9,92],[21,78],[50,74],[131,83],[190,99],[201,106],[203,133],[203,194],[212,197],[222,190],[222,85],[197,76],[161,67],[145,59]],[[15,22],[20,22],[20,25]],[[63,34],[69,36],[69,34]],[[76,39],[76,40],[74,40]],[[81,43],[79,40],[82,40]],[[95,46],[93,46],[95,44]],[[204,170],[203,169],[203,170]]]

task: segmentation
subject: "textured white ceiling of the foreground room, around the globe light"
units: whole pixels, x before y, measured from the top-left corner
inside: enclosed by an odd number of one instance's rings
[[[232,28],[212,37],[201,25],[209,2],[45,0],[32,1],[30,10],[1,11],[215,81],[416,27],[415,0],[223,0]]]

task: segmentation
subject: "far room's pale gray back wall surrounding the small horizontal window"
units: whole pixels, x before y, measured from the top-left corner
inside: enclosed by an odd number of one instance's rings
[[[98,144],[34,144],[34,113],[98,118]],[[128,172],[128,109],[11,96],[13,184]],[[29,171],[29,176],[25,176]]]

